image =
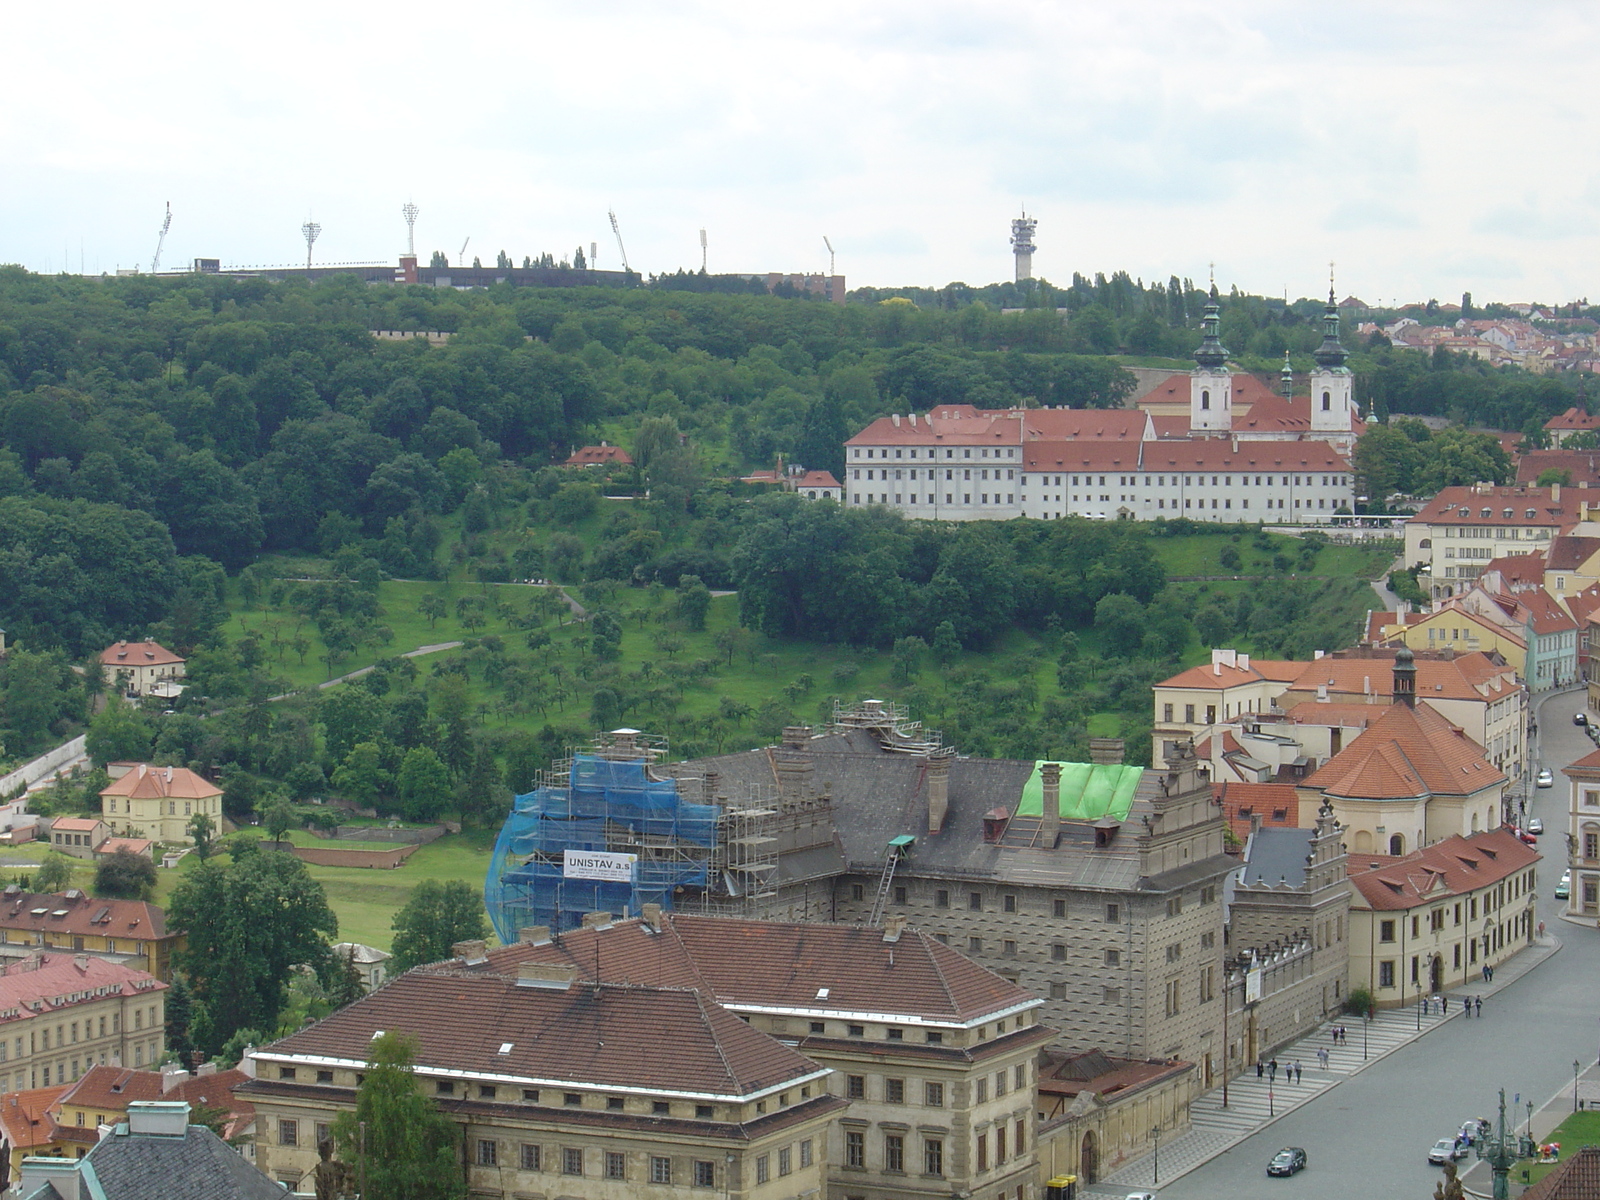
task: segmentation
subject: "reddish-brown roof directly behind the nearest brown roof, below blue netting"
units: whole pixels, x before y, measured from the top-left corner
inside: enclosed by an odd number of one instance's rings
[[[573,930],[562,934],[560,944],[518,942],[490,950],[482,970],[515,974],[520,963],[562,963],[586,979],[598,970],[613,981],[701,987],[730,1008],[880,1013],[966,1024],[1037,1003],[1032,994],[912,928],[898,942],[885,942],[883,930],[854,925],[662,914],[661,933],[640,920]],[[826,995],[818,995],[821,990]]]

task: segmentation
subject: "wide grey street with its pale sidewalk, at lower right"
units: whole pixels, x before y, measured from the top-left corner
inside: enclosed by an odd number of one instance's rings
[[[1581,707],[1582,693],[1550,696],[1538,706],[1539,765],[1557,771],[1555,787],[1531,792],[1533,811],[1550,830],[1541,845],[1546,862],[1539,870],[1539,918],[1558,939],[1560,950],[1538,952],[1542,962],[1531,970],[1502,968],[1496,984],[1504,986],[1494,994],[1485,990],[1482,1019],[1462,1019],[1453,1005],[1448,1019],[1434,1018],[1430,1032],[1418,1038],[1414,1011],[1386,1014],[1373,1034],[1381,1032],[1386,1046],[1398,1048],[1365,1069],[1358,1069],[1360,1022],[1350,1022],[1354,1045],[1344,1050],[1344,1061],[1336,1058],[1328,1075],[1307,1069],[1304,1085],[1286,1094],[1286,1099],[1301,1101],[1298,1107],[1174,1179],[1176,1171],[1259,1123],[1266,1098],[1254,1077],[1248,1077],[1230,1086],[1230,1112],[1222,1114],[1216,1098],[1197,1106],[1195,1134],[1187,1147],[1182,1141],[1163,1146],[1163,1182],[1155,1189],[1162,1200],[1283,1200],[1288,1195],[1294,1200],[1426,1200],[1440,1176],[1438,1168],[1427,1163],[1429,1147],[1470,1117],[1493,1118],[1498,1088],[1506,1088],[1507,1106],[1514,1096],[1522,1102],[1531,1099],[1536,1109],[1552,1101],[1547,1112],[1536,1112],[1534,1136],[1547,1133],[1571,1110],[1573,1061],[1584,1069],[1600,1062],[1600,1005],[1594,987],[1600,931],[1557,920],[1558,902],[1550,898],[1566,858],[1562,837],[1566,790],[1560,768],[1594,750],[1584,731],[1571,723],[1573,712]],[[1411,1027],[1410,1040],[1406,1026]],[[1376,1037],[1373,1045],[1378,1046]],[[1315,1064],[1314,1051],[1299,1058],[1302,1066]],[[1314,1094],[1307,1098],[1306,1093]],[[1517,1112],[1525,1125],[1526,1107]],[[1507,1122],[1510,1117],[1507,1107]],[[1267,1160],[1282,1146],[1306,1147],[1309,1166],[1293,1179],[1269,1179]],[[1094,1194],[1120,1197],[1149,1189],[1150,1166],[1149,1158],[1131,1165]],[[1472,1163],[1466,1186],[1486,1195],[1488,1168]]]

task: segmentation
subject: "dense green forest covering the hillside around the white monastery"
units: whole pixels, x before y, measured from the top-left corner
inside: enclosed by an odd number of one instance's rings
[[[1011,302],[1021,310],[1002,314]],[[453,661],[470,664],[474,702],[490,726],[528,728],[538,710],[539,720],[582,728],[632,710],[638,722],[701,722],[683,736],[714,744],[758,736],[738,715],[741,704],[757,707],[739,699],[754,682],[706,696],[709,712],[693,688],[686,701],[662,699],[656,674],[688,666],[678,664],[675,640],[701,637],[694,603],[654,595],[630,605],[630,590],[736,589],[744,635],[757,646],[746,662],[752,675],[763,653],[787,662],[790,648],[803,650],[789,682],[813,677],[813,685],[779,706],[789,715],[814,718],[824,693],[848,690],[848,672],[827,686],[806,664],[848,648],[864,678],[907,694],[920,688],[917,701],[974,742],[1013,752],[1062,714],[1045,720],[1035,693],[1024,706],[1032,715],[1002,736],[984,715],[994,704],[962,707],[989,683],[930,688],[914,683],[922,664],[960,654],[981,670],[984,654],[1043,648],[1038,678],[1072,701],[1069,723],[1082,731],[1096,712],[1136,714],[1147,677],[1205,640],[1323,648],[1354,634],[1341,630],[1358,616],[1358,581],[1331,606],[1309,603],[1314,592],[1334,595],[1330,581],[1283,597],[1293,608],[1269,614],[1248,597],[1206,598],[1168,584],[1152,546],[1173,530],[938,528],[763,499],[733,482],[778,456],[840,470],[840,443],[888,411],[944,402],[1118,405],[1133,381],[1114,352],[1187,354],[1203,302],[1176,280],[1146,286],[1126,277],[1059,291],[1040,283],[1026,293],[952,285],[915,299],[858,293],[834,306],[718,294],[710,280],[688,275],[637,290],[458,293],[352,278],[312,286],[0,269],[0,627],[18,646],[0,669],[3,757],[82,722],[85,696],[69,694],[78,686],[70,664],[115,638],[149,635],[190,656],[197,683],[181,707],[253,715],[240,715],[237,728],[168,730],[163,722],[195,722],[197,712],[146,714],[128,750],[282,779],[288,760],[272,747],[310,747],[318,778],[331,776],[344,763],[317,749],[315,712],[274,706],[269,714],[264,699],[298,672],[325,677],[413,648],[406,630],[418,602],[395,608],[395,589],[411,587],[386,582],[397,579],[437,584],[434,603],[448,602],[446,622],[469,642]],[[1222,307],[1224,339],[1245,365],[1275,373],[1286,349],[1298,370],[1310,366],[1317,302],[1226,296]],[[450,339],[379,339],[376,330]],[[1358,395],[1394,413],[1520,427],[1573,403],[1565,381],[1387,346],[1354,349]],[[1421,445],[1414,430],[1403,437]],[[598,440],[627,446],[637,466],[603,477],[552,466]],[[1451,443],[1450,453],[1416,461],[1446,475],[1482,470],[1458,450]],[[1290,574],[1325,571],[1315,547],[1304,558],[1282,539],[1242,542],[1250,531],[1190,533],[1213,547],[1210,558],[1218,549],[1234,562],[1242,549],[1256,554],[1258,581],[1294,587],[1304,584]],[[534,626],[554,618],[528,626],[531,616],[486,590],[533,578],[590,589],[579,643],[550,634],[554,651],[536,645]],[[472,586],[485,590],[462,592]],[[1240,586],[1258,595],[1264,587]],[[243,635],[250,614],[269,610],[270,621]],[[634,610],[643,613],[638,629],[619,629]],[[242,626],[224,627],[230,611]],[[714,610],[706,637],[731,614]],[[438,618],[432,611],[429,630]],[[650,622],[659,627],[646,651],[638,637]],[[528,654],[507,635],[525,638]],[[1085,659],[1074,650],[1080,635]],[[557,651],[570,651],[568,678],[581,686],[539,693],[539,707],[515,670],[555,669]],[[710,667],[718,659],[731,670],[739,656],[706,656]],[[880,661],[885,675],[874,677]],[[1067,666],[1083,661],[1088,667]],[[696,686],[712,675],[701,669]],[[77,678],[83,691],[94,688],[94,672]],[[774,709],[763,728],[782,715]],[[723,725],[706,725],[707,717]],[[419,747],[386,746],[381,770],[392,781],[397,747]],[[491,752],[506,754],[493,739]],[[446,770],[461,782],[470,765],[461,750]],[[240,782],[232,795],[248,792]]]

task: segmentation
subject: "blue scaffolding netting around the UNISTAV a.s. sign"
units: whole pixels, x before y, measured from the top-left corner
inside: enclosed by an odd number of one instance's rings
[[[672,909],[678,888],[704,888],[717,805],[691,805],[675,779],[651,779],[643,758],[574,755],[565,787],[518,795],[494,842],[483,904],[502,942],[528,925],[571,930],[586,912]],[[632,883],[563,878],[562,851],[638,854]]]

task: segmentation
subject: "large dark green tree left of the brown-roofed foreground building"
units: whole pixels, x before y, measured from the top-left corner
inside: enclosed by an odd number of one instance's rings
[[[322,966],[339,931],[304,862],[293,854],[237,850],[229,866],[210,859],[190,870],[166,909],[168,925],[186,934],[174,966],[195,995],[194,1040],[213,1054],[237,1030],[277,1029],[293,968]]]

